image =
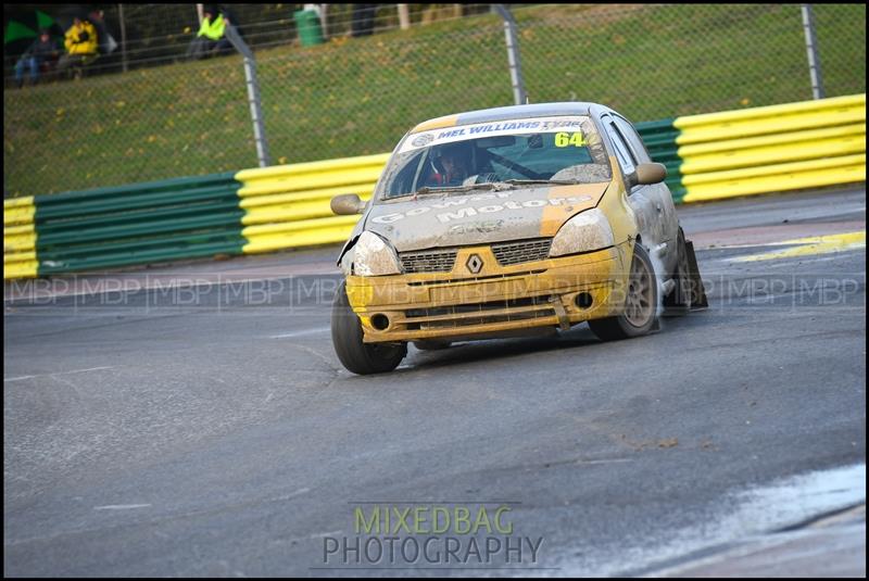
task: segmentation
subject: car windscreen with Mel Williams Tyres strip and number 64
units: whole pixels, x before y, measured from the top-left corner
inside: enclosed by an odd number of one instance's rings
[[[588,116],[508,119],[408,135],[387,164],[376,197],[610,177],[606,150]]]

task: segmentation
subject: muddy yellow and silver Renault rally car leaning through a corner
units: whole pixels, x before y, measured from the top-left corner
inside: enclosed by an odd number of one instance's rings
[[[474,111],[399,142],[338,264],[332,342],[355,374],[451,341],[557,332],[644,334],[660,304],[705,302],[666,168],[594,103]]]

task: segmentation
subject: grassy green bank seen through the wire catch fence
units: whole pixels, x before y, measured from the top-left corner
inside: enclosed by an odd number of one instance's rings
[[[262,27],[237,9],[255,53],[269,165],[378,154],[425,118],[514,103],[499,13],[450,4],[437,20],[412,7],[402,28],[396,5],[380,4],[375,34],[354,37],[348,5],[338,7],[317,46],[299,45],[289,9]],[[818,83],[827,97],[866,91],[865,4],[811,7],[815,76],[803,4],[509,9],[515,71],[534,103],[595,101],[645,122],[810,100]],[[179,20],[167,20],[176,54],[193,35]],[[16,89],[8,78],[5,197],[259,165],[240,55],[149,58],[78,81]]]

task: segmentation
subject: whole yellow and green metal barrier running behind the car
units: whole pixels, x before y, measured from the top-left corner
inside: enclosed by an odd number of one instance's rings
[[[678,203],[866,181],[866,94],[637,124]],[[389,153],[7,200],[4,278],[344,241]]]

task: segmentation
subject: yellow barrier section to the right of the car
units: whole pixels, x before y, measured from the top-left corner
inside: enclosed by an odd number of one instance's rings
[[[673,123],[683,202],[866,181],[866,94]]]

